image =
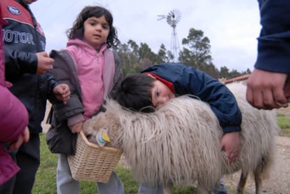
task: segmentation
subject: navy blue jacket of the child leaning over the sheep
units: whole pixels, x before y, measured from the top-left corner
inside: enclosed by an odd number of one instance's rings
[[[215,78],[185,64],[158,64],[143,69],[174,85],[176,95],[195,95],[209,103],[216,114],[223,132],[239,132],[242,113],[232,92]]]

